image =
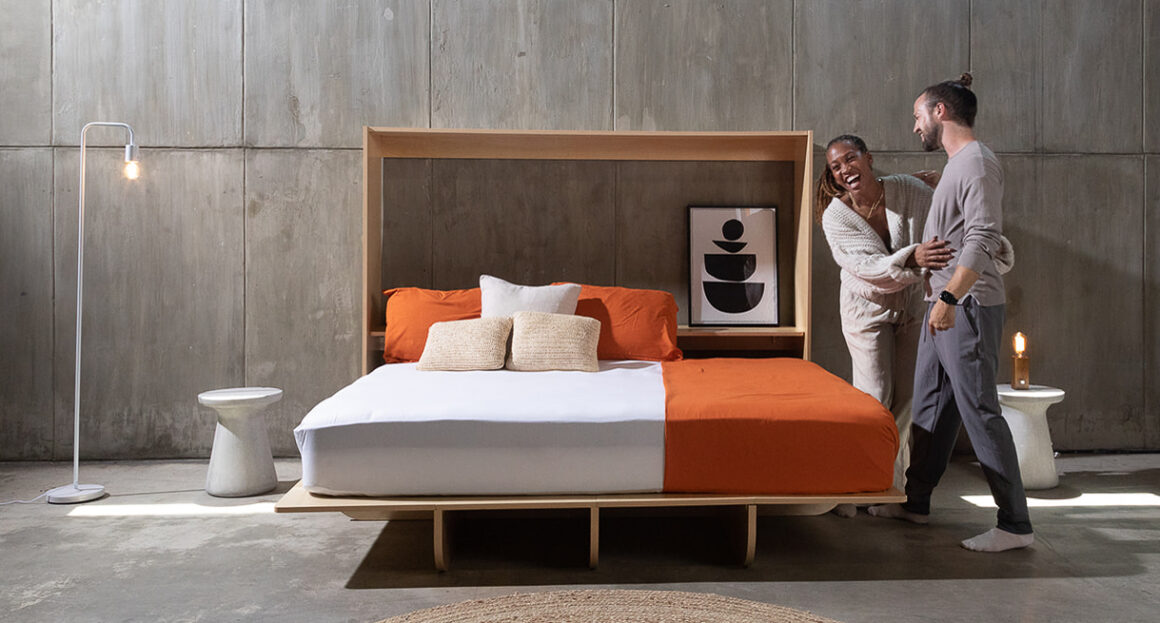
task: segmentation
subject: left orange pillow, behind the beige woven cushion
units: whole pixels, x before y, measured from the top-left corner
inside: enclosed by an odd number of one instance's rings
[[[427,346],[427,329],[444,320],[479,318],[479,288],[425,290],[393,288],[386,295],[386,338],[383,361],[419,361]]]

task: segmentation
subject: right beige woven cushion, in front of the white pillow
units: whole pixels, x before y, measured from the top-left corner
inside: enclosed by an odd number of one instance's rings
[[[516,312],[512,325],[508,370],[580,370],[595,372],[600,320],[564,313]]]

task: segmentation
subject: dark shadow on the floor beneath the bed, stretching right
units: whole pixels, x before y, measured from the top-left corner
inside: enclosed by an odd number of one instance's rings
[[[1160,553],[1154,539],[1118,538],[1147,529],[1138,520],[1095,520],[1083,510],[1043,509],[1038,543],[981,555],[959,548],[993,510],[950,512],[912,526],[860,513],[846,520],[759,517],[753,566],[740,566],[735,523],[720,516],[640,516],[603,512],[600,565],[589,570],[586,516],[536,517],[465,513],[451,537],[450,571],[433,564],[430,521],[389,522],[347,588],[445,586],[632,585],[718,581],[869,581],[1121,577],[1140,573],[1140,555]],[[1134,528],[1133,528],[1134,527]]]

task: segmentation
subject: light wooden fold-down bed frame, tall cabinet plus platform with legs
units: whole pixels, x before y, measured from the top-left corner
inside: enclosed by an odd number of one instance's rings
[[[432,162],[464,162],[465,166],[499,162],[503,167],[535,167],[536,162],[610,162],[609,167],[583,168],[585,174],[608,179],[586,180],[572,178],[573,187],[586,188],[600,182],[617,190],[617,203],[625,202],[621,216],[609,222],[600,220],[600,210],[593,210],[586,202],[573,202],[582,209],[560,217],[550,210],[521,211],[521,218],[535,216],[543,222],[536,226],[510,226],[501,229],[502,236],[487,241],[471,241],[472,247],[490,248],[490,245],[507,245],[503,253],[488,255],[490,263],[479,265],[477,254],[452,254],[466,266],[436,267],[434,259],[444,254],[436,252],[434,240],[443,236],[444,229],[436,225],[435,216],[452,213],[483,213],[476,209],[450,210],[447,205],[436,210],[436,173]],[[389,165],[389,166],[387,166]],[[592,261],[575,261],[578,251],[567,249],[567,256],[559,254],[529,261],[513,249],[539,248],[537,238],[543,231],[554,231],[573,220],[581,230],[602,233],[601,239],[622,240],[625,248],[611,249],[607,245],[579,247],[589,254],[614,253],[623,256],[623,265],[607,271],[585,271],[573,267],[572,273],[552,273],[549,280],[603,283],[653,288],[672,292],[683,292],[687,285],[688,254],[684,226],[687,207],[690,204],[776,204],[784,222],[778,225],[778,274],[784,298],[781,326],[776,327],[681,327],[679,346],[687,355],[696,352],[742,352],[775,350],[782,356],[810,358],[810,303],[811,303],[811,201],[812,201],[813,133],[790,132],[624,132],[624,131],[516,131],[516,130],[438,130],[411,128],[365,128],[363,132],[363,353],[362,372],[367,374],[382,363],[383,333],[385,328],[383,290],[393,285],[420,285],[449,289],[467,287],[469,275],[477,278],[479,271],[515,280],[539,278],[535,273],[525,273],[528,266],[600,265]],[[658,168],[661,167],[661,168]],[[682,168],[683,167],[683,168]],[[693,167],[693,168],[690,168]],[[470,169],[470,168],[469,168]],[[691,176],[682,186],[681,180],[690,172],[704,169],[706,175]],[[456,169],[459,171],[459,169]],[[491,168],[480,168],[488,173]],[[530,191],[521,184],[517,168],[503,168],[509,175],[505,183],[514,184],[502,193],[485,194],[491,205],[507,201],[508,196],[523,196]],[[567,169],[573,171],[573,169]],[[580,169],[577,169],[580,171]],[[664,174],[658,174],[658,171]],[[728,173],[732,172],[732,173]],[[784,172],[784,176],[782,173]],[[479,172],[477,172],[478,174]],[[726,173],[725,175],[722,175]],[[462,174],[462,172],[456,175]],[[490,173],[488,173],[490,174]],[[458,179],[458,178],[456,178]],[[490,183],[493,178],[483,178]],[[494,186],[494,183],[493,183]],[[556,201],[563,183],[530,193],[531,197]],[[519,190],[519,191],[517,191]],[[643,197],[643,198],[641,198]],[[479,197],[471,196],[469,201]],[[508,201],[510,203],[510,201]],[[612,213],[612,212],[608,212]],[[636,215],[636,219],[631,219]],[[444,215],[445,216],[445,215]],[[557,218],[557,220],[553,220]],[[781,219],[782,217],[780,217]],[[583,220],[587,219],[587,220]],[[581,220],[583,220],[581,223]],[[621,225],[616,223],[623,222]],[[445,222],[441,222],[444,223]],[[632,261],[636,245],[630,245],[641,229],[660,223],[670,227],[670,236],[653,236],[650,244],[655,246],[654,256],[648,262]],[[646,227],[645,225],[648,225]],[[615,229],[624,227],[621,236]],[[608,231],[608,227],[612,227]],[[668,231],[668,230],[662,230]],[[418,233],[416,233],[418,232]],[[681,232],[681,233],[676,233]],[[473,236],[478,232],[472,231]],[[499,236],[499,234],[496,234]],[[523,236],[523,238],[519,238]],[[530,238],[529,238],[530,237]],[[478,236],[476,236],[478,238]],[[441,248],[463,249],[464,241],[441,239]],[[622,246],[624,246],[622,245]],[[567,260],[567,261],[561,261]],[[659,265],[658,265],[659,262]],[[643,269],[640,266],[659,268]],[[601,265],[602,266],[602,265]],[[631,270],[630,270],[631,269]],[[650,271],[652,270],[652,271]],[[654,274],[655,273],[655,274]],[[458,275],[458,276],[457,276]],[[603,275],[603,276],[602,276]],[[624,283],[608,282],[608,275],[624,278]],[[680,296],[677,297],[681,298]],[[432,519],[434,523],[435,566],[448,568],[448,531],[451,520],[464,510],[524,512],[541,509],[575,509],[588,512],[589,559],[595,567],[599,562],[600,510],[602,508],[676,508],[718,507],[735,515],[739,562],[753,562],[759,507],[762,514],[821,514],[838,504],[882,504],[905,500],[897,490],[877,493],[848,495],[691,495],[691,494],[609,494],[609,495],[525,495],[525,497],[429,497],[429,498],[339,498],[314,495],[295,485],[276,505],[278,513],[345,513],[356,520]]]

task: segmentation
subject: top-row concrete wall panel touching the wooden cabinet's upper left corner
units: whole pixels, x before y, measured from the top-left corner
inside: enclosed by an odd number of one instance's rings
[[[426,1],[247,0],[246,144],[361,147],[363,125],[426,128]]]

